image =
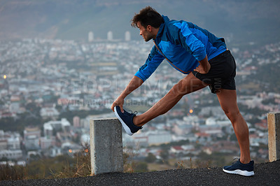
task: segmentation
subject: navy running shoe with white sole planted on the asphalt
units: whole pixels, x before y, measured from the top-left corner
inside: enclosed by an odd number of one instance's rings
[[[226,173],[235,173],[241,176],[254,176],[253,172],[253,160],[248,164],[242,164],[240,159],[237,162],[234,162],[231,166],[224,166],[223,171]]]

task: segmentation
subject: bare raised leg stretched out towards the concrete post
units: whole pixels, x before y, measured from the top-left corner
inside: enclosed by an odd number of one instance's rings
[[[153,118],[159,115],[167,113],[178,101],[186,94],[195,92],[206,87],[207,84],[201,80],[195,78],[193,73],[189,73],[188,76],[179,81],[172,89],[162,98],[158,103],[155,103],[152,108],[141,115],[134,117],[133,122],[137,126],[143,126],[147,122],[153,120]]]

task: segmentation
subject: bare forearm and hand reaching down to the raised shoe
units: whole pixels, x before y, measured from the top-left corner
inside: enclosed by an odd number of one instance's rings
[[[116,101],[113,102],[111,109],[113,111],[115,106],[120,106],[120,110],[123,112],[123,103],[125,102],[125,97],[132,93],[134,90],[136,90],[138,87],[140,87],[144,83],[143,80],[138,78],[137,76],[134,76],[132,80],[130,80],[130,83],[127,85],[125,90],[118,96]]]

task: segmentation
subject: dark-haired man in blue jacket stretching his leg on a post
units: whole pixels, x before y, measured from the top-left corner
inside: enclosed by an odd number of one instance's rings
[[[237,106],[235,59],[227,50],[224,39],[217,38],[191,22],[169,20],[150,6],[134,15],[132,27],[138,27],[144,40],[153,39],[155,45],[146,63],[111,106],[127,134],[136,133],[153,118],[167,113],[184,95],[209,86],[211,92],[218,96],[221,108],[232,122],[240,148],[239,160],[232,166],[223,167],[223,171],[253,176],[248,127]],[[135,115],[125,111],[125,97],[140,87],[163,59],[167,59],[176,70],[188,75],[146,113]]]

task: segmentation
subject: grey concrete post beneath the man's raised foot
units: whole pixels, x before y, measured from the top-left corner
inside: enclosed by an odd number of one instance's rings
[[[92,176],[123,172],[123,133],[118,119],[90,120]]]

